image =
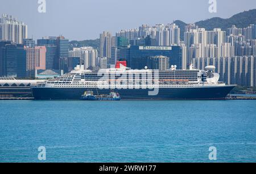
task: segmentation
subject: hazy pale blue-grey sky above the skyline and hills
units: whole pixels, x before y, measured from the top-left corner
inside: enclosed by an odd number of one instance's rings
[[[141,24],[194,23],[212,17],[229,18],[256,9],[255,0],[217,0],[210,13],[209,0],[46,0],[46,13],[38,0],[1,0],[0,14],[12,14],[28,25],[28,36],[63,35],[70,40],[96,39],[102,31],[138,28]]]

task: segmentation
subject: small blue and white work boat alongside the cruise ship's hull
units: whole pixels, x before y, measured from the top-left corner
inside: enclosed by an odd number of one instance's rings
[[[93,95],[93,91],[85,91],[84,95],[81,96],[81,100],[121,100],[120,95],[117,92],[110,92],[109,95]]]

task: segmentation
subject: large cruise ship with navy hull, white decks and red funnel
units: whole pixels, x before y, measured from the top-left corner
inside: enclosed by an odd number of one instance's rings
[[[197,70],[133,70],[119,63],[115,68],[85,70],[77,65],[71,73],[32,86],[36,100],[79,100],[85,91],[108,95],[118,92],[122,100],[221,100],[235,87],[218,82],[214,66]]]

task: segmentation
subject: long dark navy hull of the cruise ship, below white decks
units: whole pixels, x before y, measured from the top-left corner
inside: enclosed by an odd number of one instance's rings
[[[234,86],[199,88],[159,88],[158,95],[148,95],[150,90],[112,90],[118,92],[122,100],[221,100]],[[96,88],[32,88],[36,100],[79,100],[85,91],[109,95],[111,90]]]

